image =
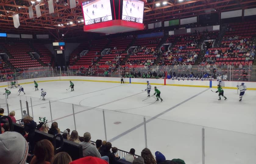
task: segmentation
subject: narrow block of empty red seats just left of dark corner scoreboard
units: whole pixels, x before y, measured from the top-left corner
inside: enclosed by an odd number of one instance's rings
[[[34,43],[34,48],[39,52],[40,60],[44,63],[52,63],[52,53],[42,44]]]

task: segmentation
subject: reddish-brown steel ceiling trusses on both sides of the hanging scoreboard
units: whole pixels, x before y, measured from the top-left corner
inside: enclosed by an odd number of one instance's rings
[[[29,18],[28,7],[40,4],[41,17]],[[54,0],[54,13],[49,14],[47,0],[0,0],[0,31],[23,33],[51,33],[55,38],[61,32],[83,31],[84,22],[79,4],[70,9],[69,0]],[[177,18],[186,18],[214,12],[256,7],[255,0],[148,0],[144,5],[144,24]],[[13,26],[12,16],[19,13],[20,27]]]

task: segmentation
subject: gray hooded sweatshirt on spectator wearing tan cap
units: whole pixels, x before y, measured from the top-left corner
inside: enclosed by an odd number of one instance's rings
[[[79,144],[82,145],[83,157],[93,156],[101,158],[101,154],[99,153],[96,146],[92,145],[89,142],[80,142]]]

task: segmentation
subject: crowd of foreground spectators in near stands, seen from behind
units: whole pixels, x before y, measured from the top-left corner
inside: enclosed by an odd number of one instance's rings
[[[0,108],[0,117],[3,116],[3,113],[4,109]],[[15,113],[11,113],[10,116],[13,118]],[[12,121],[15,120],[12,119]],[[57,122],[52,122],[51,128],[48,130],[49,127],[45,119],[39,122],[38,125],[30,116],[25,116],[22,121],[24,123],[24,134],[9,132],[9,129],[5,128],[6,123],[1,125],[4,127],[2,128],[2,134],[0,134],[0,147],[2,150],[0,159],[3,163],[25,164],[30,153],[33,154],[30,164],[121,164],[125,161],[133,164],[185,164],[182,159],[166,160],[165,156],[158,151],[155,152],[154,157],[148,148],[144,148],[141,151],[141,156],[135,155],[135,149],[132,148],[129,153],[120,158],[118,148],[112,147],[111,142],[100,139],[96,140],[96,142],[91,142],[91,133],[85,132],[83,137],[80,137],[76,130],[73,130],[69,135],[70,129],[66,129],[63,131],[63,138],[82,145],[83,150],[83,158],[72,161],[72,158],[66,152],[55,154],[55,148],[48,139],[34,142],[36,129],[51,135],[60,134]]]

